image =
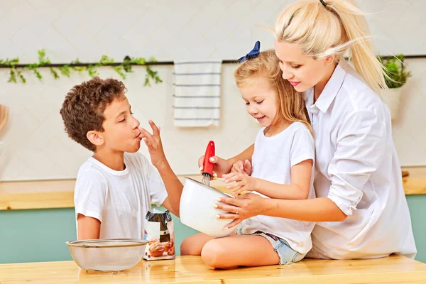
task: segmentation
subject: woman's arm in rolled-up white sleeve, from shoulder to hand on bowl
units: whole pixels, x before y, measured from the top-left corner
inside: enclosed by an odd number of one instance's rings
[[[239,214],[222,214],[236,219],[235,225],[256,215],[268,215],[308,222],[342,222],[361,201],[363,187],[383,161],[386,124],[373,111],[351,111],[340,126],[337,150],[329,161],[331,185],[327,197],[312,200],[275,200],[254,194],[239,199],[222,198],[219,209]],[[317,149],[317,151],[320,151]]]

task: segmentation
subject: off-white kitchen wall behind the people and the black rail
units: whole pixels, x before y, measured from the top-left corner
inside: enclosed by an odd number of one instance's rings
[[[109,55],[121,61],[125,55],[155,56],[157,60],[236,59],[256,40],[261,49],[273,47],[273,37],[259,26],[273,26],[290,1],[0,1],[0,58],[18,56],[34,62],[45,48],[52,62],[99,60]],[[376,35],[378,53],[426,54],[426,1],[360,1]],[[413,72],[401,102],[393,135],[403,165],[426,165],[426,60],[407,60]],[[124,80],[136,117],[143,126],[153,119],[162,126],[170,163],[178,174],[197,173],[197,158],[209,140],[217,153],[234,155],[253,142],[256,122],[246,114],[232,72],[222,66],[222,114],[220,126],[210,129],[177,129],[173,126],[173,65],[155,66],[163,84],[143,87],[145,70],[134,67]],[[119,78],[109,68],[101,77]],[[65,94],[87,75],[53,80],[43,70],[43,82],[28,73],[27,84],[11,84],[8,70],[0,70],[0,104],[11,116],[0,141],[8,146],[0,180],[75,178],[89,151],[67,138],[59,109]],[[147,153],[142,145],[141,151]]]

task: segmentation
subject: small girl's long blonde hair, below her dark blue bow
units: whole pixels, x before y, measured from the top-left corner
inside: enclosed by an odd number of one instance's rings
[[[275,50],[263,51],[257,57],[242,62],[234,72],[236,86],[250,84],[250,78],[253,79],[253,76],[266,77],[278,94],[278,109],[273,124],[278,121],[300,121],[307,126],[313,136],[304,94],[296,92],[287,80],[283,80],[283,71],[280,69]]]

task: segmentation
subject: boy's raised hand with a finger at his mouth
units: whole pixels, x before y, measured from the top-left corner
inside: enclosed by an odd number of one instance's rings
[[[151,156],[151,163],[153,163],[155,168],[160,168],[165,165],[165,163],[167,163],[163,150],[163,143],[161,143],[160,129],[158,129],[152,120],[148,122],[151,126],[151,129],[153,129],[152,135],[142,127],[139,127],[139,130],[141,130],[141,137],[143,142],[145,142],[146,146],[148,146],[149,155]]]

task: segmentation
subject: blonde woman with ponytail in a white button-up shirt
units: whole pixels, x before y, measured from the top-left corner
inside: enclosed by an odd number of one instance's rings
[[[249,193],[222,199],[227,204],[218,208],[234,207],[239,214],[221,217],[236,219],[229,226],[256,215],[318,222],[308,254],[313,258],[391,253],[414,258],[391,116],[378,95],[386,84],[362,12],[349,0],[295,1],[278,17],[275,36],[283,78],[305,92],[315,133],[318,198],[274,200]],[[228,173],[253,151],[251,146],[230,160],[214,157],[214,171]]]

